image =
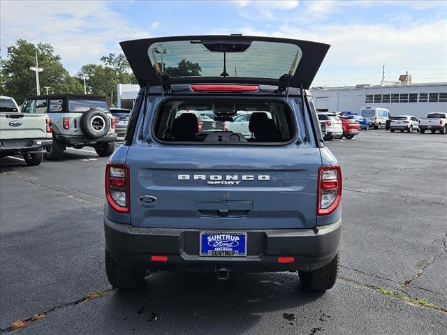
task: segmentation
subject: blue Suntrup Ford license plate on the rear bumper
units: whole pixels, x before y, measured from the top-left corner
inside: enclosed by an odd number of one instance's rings
[[[247,256],[247,232],[200,232],[200,256]]]

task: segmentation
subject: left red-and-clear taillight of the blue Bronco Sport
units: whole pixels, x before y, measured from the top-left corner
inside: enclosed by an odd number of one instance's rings
[[[105,198],[115,211],[129,213],[129,166],[121,163],[107,163]]]

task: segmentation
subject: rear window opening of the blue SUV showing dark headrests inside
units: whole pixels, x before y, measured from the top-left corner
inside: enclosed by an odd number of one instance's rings
[[[279,102],[169,101],[157,112],[161,142],[196,144],[286,143],[296,135],[289,107]]]

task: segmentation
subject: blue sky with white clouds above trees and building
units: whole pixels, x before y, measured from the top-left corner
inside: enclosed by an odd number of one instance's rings
[[[122,40],[243,34],[330,44],[313,86],[380,84],[383,65],[385,80],[447,82],[447,0],[1,0],[0,15],[2,57],[17,39],[50,43],[72,75]]]

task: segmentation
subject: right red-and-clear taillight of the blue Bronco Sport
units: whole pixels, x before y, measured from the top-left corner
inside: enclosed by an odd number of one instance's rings
[[[318,169],[317,215],[328,215],[337,209],[342,200],[342,170],[339,165],[321,166]]]

